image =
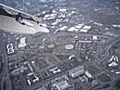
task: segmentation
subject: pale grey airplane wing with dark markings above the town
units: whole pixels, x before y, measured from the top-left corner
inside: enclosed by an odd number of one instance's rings
[[[37,17],[0,3],[0,30],[19,34],[49,33]]]

